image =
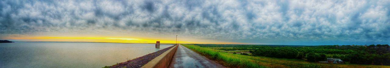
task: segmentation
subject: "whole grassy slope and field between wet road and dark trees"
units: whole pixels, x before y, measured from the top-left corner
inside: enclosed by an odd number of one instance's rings
[[[240,68],[390,68],[390,66],[380,65],[356,65],[356,64],[332,64],[332,63],[314,63],[299,59],[270,58],[264,56],[247,56],[204,48],[196,45],[182,44],[193,51],[207,56],[213,60],[220,61],[223,65]]]

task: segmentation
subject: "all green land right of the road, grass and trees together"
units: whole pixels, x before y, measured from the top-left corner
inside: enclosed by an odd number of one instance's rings
[[[388,44],[181,45],[230,68],[390,68]]]

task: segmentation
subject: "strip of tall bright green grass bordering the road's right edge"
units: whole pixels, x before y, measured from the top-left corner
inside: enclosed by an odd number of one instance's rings
[[[255,63],[254,61],[251,61],[247,58],[240,58],[238,56],[235,56],[234,54],[230,53],[222,53],[215,51],[210,48],[203,48],[196,45],[188,45],[188,44],[182,44],[183,46],[186,46],[187,48],[197,51],[198,53],[202,55],[209,56],[213,60],[219,60],[223,61],[224,65],[229,67],[239,67],[239,68],[266,68],[266,66],[262,66],[258,63]]]

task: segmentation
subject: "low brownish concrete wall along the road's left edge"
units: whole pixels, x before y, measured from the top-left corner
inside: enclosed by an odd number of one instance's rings
[[[172,60],[173,55],[176,53],[177,46],[170,48],[161,55],[157,56],[153,60],[146,63],[141,68],[168,68],[170,61]]]

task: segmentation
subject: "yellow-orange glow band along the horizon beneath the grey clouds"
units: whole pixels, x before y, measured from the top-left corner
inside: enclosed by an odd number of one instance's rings
[[[176,43],[176,40],[156,40],[144,38],[118,38],[118,37],[53,37],[53,36],[38,36],[38,37],[6,37],[11,40],[27,40],[27,41],[66,41],[66,42],[108,42],[108,43]],[[245,44],[234,42],[209,42],[209,41],[181,41],[178,43],[197,43],[197,44]]]

